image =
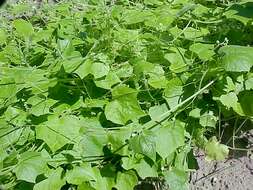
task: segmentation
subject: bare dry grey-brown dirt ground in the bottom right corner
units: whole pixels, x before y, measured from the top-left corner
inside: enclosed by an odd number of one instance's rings
[[[253,190],[253,155],[235,157],[208,163],[198,155],[199,170],[191,175],[190,189]]]

